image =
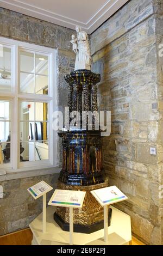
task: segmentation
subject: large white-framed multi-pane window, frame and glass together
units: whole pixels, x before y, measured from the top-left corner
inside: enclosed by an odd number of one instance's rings
[[[4,165],[8,172],[55,166],[54,52],[48,47],[0,39],[0,169]]]

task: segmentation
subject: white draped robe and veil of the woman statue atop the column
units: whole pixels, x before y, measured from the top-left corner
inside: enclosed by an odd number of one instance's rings
[[[76,65],[74,70],[88,69],[91,70],[91,51],[86,32],[78,33],[78,50]]]

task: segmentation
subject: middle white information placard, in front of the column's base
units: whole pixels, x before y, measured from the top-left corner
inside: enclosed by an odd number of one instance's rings
[[[55,190],[48,205],[81,209],[85,193],[84,191]]]

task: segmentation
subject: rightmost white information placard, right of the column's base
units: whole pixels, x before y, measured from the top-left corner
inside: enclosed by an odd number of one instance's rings
[[[115,204],[128,199],[116,186],[104,187],[99,190],[92,190],[91,194],[102,206]]]

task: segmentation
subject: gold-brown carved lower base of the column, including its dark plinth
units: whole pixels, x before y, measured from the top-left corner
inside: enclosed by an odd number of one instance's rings
[[[95,197],[92,196],[92,190],[98,190],[99,188],[108,187],[108,181],[97,185],[91,186],[72,186],[66,185],[62,182],[58,182],[58,189],[60,190],[76,190],[85,191],[86,195],[83,202],[82,209],[73,210],[73,223],[74,231],[79,233],[90,234],[104,227],[104,211],[103,207],[97,202]],[[61,227],[62,230],[69,230],[69,208],[57,207],[57,211],[54,214],[54,220]],[[108,224],[111,222],[111,210],[109,208]]]

